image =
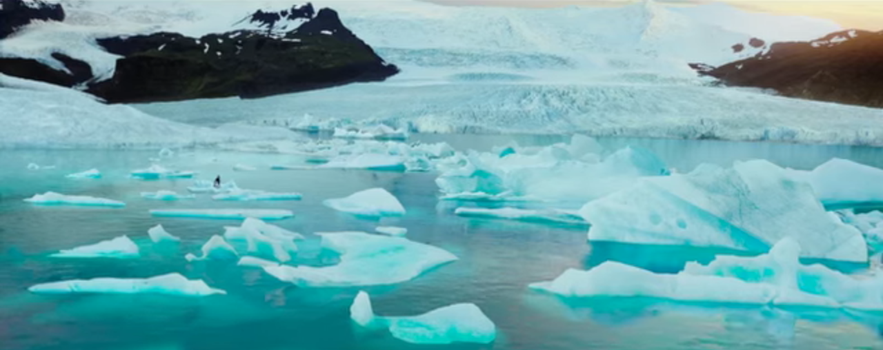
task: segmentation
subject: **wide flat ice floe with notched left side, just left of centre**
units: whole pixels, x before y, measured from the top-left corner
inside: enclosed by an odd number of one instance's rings
[[[337,265],[267,266],[281,281],[305,287],[386,285],[416,278],[435,267],[457,260],[453,254],[401,237],[364,232],[324,233],[322,247],[340,254]]]

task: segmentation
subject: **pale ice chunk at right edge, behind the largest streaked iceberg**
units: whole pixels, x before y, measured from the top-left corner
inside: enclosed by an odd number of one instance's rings
[[[883,169],[835,158],[811,172],[795,174],[812,185],[825,206],[883,203]]]

